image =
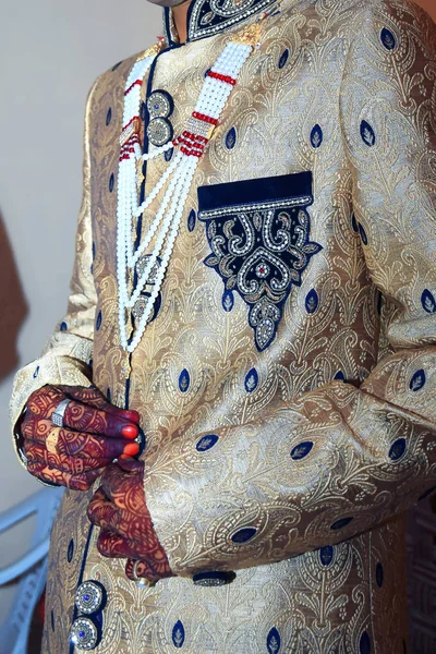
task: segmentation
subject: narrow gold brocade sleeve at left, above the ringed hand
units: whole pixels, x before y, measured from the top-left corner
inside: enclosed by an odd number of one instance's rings
[[[93,237],[90,222],[90,160],[89,160],[89,114],[94,84],[86,104],[83,161],[83,198],[78,216],[75,244],[75,262],[71,280],[68,313],[59,323],[53,336],[46,344],[39,359],[20,370],[14,378],[10,402],[10,419],[19,459],[25,465],[22,438],[16,423],[28,397],[46,384],[89,386],[92,378],[92,356],[94,318],[97,303],[92,271]]]

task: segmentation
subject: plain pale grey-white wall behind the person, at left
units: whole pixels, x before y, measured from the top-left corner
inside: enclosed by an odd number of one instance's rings
[[[88,88],[155,41],[160,11],[146,0],[0,0],[0,214],[29,307],[21,364],[39,354],[65,310]],[[0,312],[7,319],[4,306]],[[11,383],[12,375],[0,384],[0,511],[39,488],[11,446]],[[0,567],[24,549],[25,536],[0,542]],[[0,591],[0,622],[11,594]]]

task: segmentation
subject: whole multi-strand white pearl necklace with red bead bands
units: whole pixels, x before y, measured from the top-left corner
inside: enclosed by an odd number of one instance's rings
[[[242,66],[258,43],[258,37],[259,22],[237,34],[226,45],[215,64],[206,73],[195,109],[182,134],[145,155],[140,143],[141,87],[161,45],[154,46],[136,61],[128,77],[124,92],[124,126],[120,136],[117,208],[118,317],[121,346],[128,353],[132,353],[138,346],[153,314],[198,161],[218,124]],[[175,150],[172,161],[146,199],[138,204],[137,165],[154,159],[171,148]],[[156,217],[144,240],[134,249],[132,230],[135,228],[135,222],[165,187]],[[152,251],[147,252],[154,240]],[[141,267],[138,262],[143,264]],[[129,292],[129,280],[133,279],[135,269],[137,281],[134,288],[132,282],[132,290]],[[132,329],[130,312],[152,280],[153,290],[146,298],[142,295],[143,312],[140,319],[135,322],[137,323],[135,329]]]

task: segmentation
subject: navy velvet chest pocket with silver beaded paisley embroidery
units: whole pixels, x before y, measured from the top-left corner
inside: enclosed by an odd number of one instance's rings
[[[198,218],[210,246],[204,263],[225,283],[225,308],[233,292],[250,306],[259,351],[276,338],[292,287],[301,286],[311,257],[322,250],[310,240],[312,203],[312,172],[198,189]]]

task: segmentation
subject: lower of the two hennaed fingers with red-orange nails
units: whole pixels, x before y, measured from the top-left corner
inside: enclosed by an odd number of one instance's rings
[[[72,432],[63,427],[55,427],[51,421],[35,420],[24,427],[26,439],[46,444],[47,438],[56,440],[56,450],[69,457],[92,458],[99,461],[117,459],[121,455],[135,457],[140,451],[137,443],[126,438],[105,438],[83,432]]]

